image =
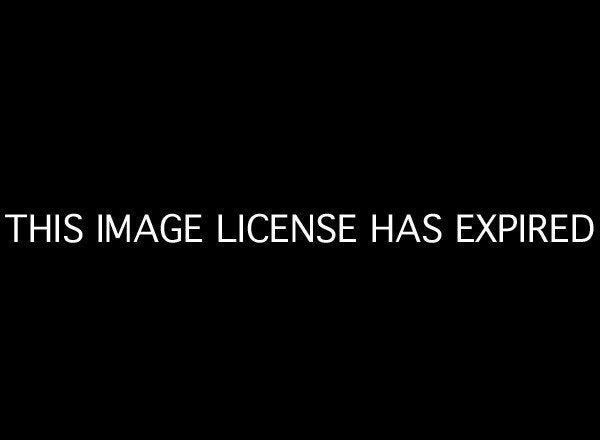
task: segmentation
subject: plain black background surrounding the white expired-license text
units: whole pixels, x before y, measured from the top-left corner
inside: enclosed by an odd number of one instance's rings
[[[247,12],[30,11],[3,55],[2,213],[356,212],[361,243],[5,240],[12,413],[572,429],[594,389],[597,238],[460,246],[453,218],[597,221],[592,29],[539,11]],[[428,212],[440,245],[368,244],[371,213]]]

